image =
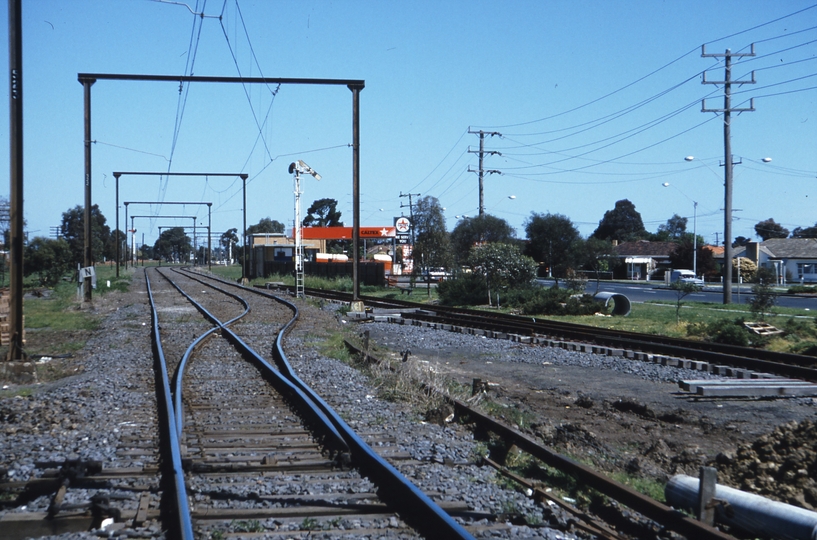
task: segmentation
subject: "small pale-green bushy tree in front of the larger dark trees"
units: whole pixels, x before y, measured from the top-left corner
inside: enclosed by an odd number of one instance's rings
[[[498,292],[505,287],[526,285],[536,277],[536,262],[522,255],[519,248],[511,244],[491,243],[471,248],[469,263],[475,273],[485,278],[488,286],[488,305],[491,305],[491,291]]]

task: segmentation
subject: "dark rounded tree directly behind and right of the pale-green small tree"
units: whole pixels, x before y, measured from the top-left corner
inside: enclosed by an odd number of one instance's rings
[[[575,263],[573,247],[581,239],[573,222],[561,214],[531,212],[524,225],[528,238],[525,254],[544,263],[551,275],[563,276]]]

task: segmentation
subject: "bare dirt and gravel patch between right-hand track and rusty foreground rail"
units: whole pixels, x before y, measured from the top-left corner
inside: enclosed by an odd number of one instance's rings
[[[677,384],[486,360],[467,348],[412,347],[412,355],[462,384],[494,383],[491,399],[534,418],[527,431],[599,470],[664,482],[716,466],[721,484],[817,509],[817,398],[698,398]]]

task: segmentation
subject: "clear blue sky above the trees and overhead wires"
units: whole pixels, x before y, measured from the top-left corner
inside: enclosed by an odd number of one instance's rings
[[[201,12],[202,19],[192,12]],[[8,27],[7,10],[0,24]],[[219,18],[220,17],[220,18]],[[455,216],[478,211],[479,139],[487,137],[488,213],[524,238],[531,212],[569,217],[585,236],[629,199],[646,228],[689,217],[713,243],[723,230],[721,58],[735,58],[733,236],[773,218],[817,222],[817,4],[736,1],[250,1],[23,2],[25,218],[48,236],[83,204],[83,95],[77,74],[364,79],[362,225],[408,214],[400,193],[431,195]],[[8,58],[8,43],[2,43]],[[8,70],[4,74],[8,96]],[[248,225],[291,226],[302,159],[303,209],[339,201],[352,223],[352,94],[345,87],[99,81],[92,87],[93,200],[113,227],[113,171],[243,172]],[[6,102],[8,98],[6,97]],[[8,109],[3,110],[8,118]],[[7,121],[4,125],[8,125]],[[8,148],[8,130],[0,132]],[[471,153],[469,153],[469,149]],[[691,162],[685,156],[695,156]],[[771,157],[770,163],[762,158]],[[8,171],[8,152],[0,153]],[[668,183],[668,187],[662,184]],[[123,177],[120,201],[213,203],[213,231],[241,228],[241,183]],[[8,186],[8,183],[5,184]],[[8,188],[0,195],[8,196]],[[515,198],[511,199],[511,196]],[[131,206],[131,215],[197,215],[205,206]],[[124,209],[121,212],[124,218]],[[138,219],[152,244],[158,226]],[[120,228],[125,229],[124,221]],[[722,237],[721,237],[722,238]]]

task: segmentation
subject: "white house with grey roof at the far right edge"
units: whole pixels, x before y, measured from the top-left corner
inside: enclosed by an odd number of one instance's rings
[[[817,283],[817,238],[770,238],[735,248],[758,267],[774,270],[778,283]]]

